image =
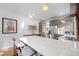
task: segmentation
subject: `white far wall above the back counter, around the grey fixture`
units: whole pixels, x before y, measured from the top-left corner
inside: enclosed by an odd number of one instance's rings
[[[36,26],[36,31],[34,33],[36,33],[36,34],[39,33],[39,21],[38,21],[38,19],[36,19],[36,18],[28,18],[27,21],[25,21],[25,30],[23,32],[25,35],[26,34],[33,34],[32,30],[27,29],[29,25]]]

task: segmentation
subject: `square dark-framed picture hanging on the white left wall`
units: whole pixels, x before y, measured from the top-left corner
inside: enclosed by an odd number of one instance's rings
[[[17,33],[17,20],[10,18],[2,18],[2,33]]]

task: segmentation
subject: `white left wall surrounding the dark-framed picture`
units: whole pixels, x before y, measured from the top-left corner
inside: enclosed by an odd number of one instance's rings
[[[15,34],[2,34],[2,17],[3,16],[0,16],[0,49],[6,48],[6,47],[12,45],[12,42],[13,42],[12,41],[12,38],[15,37],[16,39],[18,39],[23,34],[22,33],[23,32],[23,29],[20,26],[23,18],[21,19],[20,17],[15,17],[15,16],[12,17],[10,15],[5,16],[5,17],[12,18],[12,19],[17,19],[17,21],[18,21],[18,24],[17,24],[17,26],[18,26],[17,33],[15,33]]]

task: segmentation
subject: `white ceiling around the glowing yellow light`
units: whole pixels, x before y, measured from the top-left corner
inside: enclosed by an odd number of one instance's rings
[[[28,17],[34,14],[37,19],[50,18],[70,13],[69,3],[50,3],[48,12],[42,10],[42,3],[4,3],[0,4],[0,15],[13,14],[20,17]]]

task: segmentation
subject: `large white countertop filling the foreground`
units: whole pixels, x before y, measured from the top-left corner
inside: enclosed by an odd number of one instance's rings
[[[44,56],[78,56],[79,50],[75,48],[73,41],[62,41],[39,36],[26,36],[20,38]]]

